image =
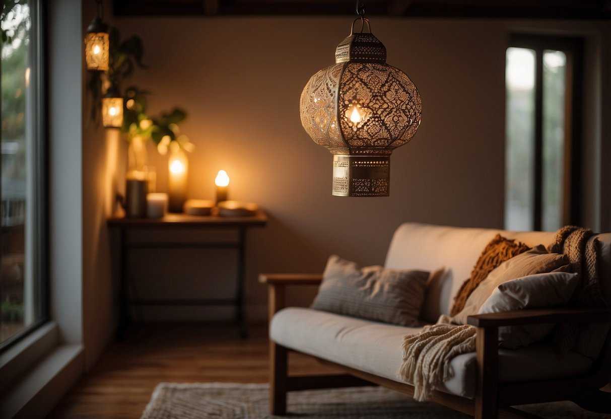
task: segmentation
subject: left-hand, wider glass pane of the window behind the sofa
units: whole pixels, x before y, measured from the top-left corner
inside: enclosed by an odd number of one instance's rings
[[[507,48],[505,86],[505,228],[532,230],[535,51]]]

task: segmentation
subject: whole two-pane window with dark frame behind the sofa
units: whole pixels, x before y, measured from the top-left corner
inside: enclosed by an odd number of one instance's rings
[[[507,49],[505,228],[579,224],[580,40],[516,37]]]

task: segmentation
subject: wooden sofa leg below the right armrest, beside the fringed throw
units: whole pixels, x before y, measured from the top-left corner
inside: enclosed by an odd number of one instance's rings
[[[499,375],[499,329],[478,327],[477,392],[475,393],[475,419],[497,419],[497,379]]]

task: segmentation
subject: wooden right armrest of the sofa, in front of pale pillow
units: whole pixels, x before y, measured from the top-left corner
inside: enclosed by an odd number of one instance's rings
[[[534,308],[513,312],[486,313],[467,317],[467,323],[477,327],[516,326],[541,323],[607,323],[611,308]]]

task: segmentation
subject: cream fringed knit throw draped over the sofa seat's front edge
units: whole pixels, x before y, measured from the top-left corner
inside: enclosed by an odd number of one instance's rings
[[[442,315],[437,324],[405,336],[403,364],[397,376],[414,385],[415,400],[430,399],[435,387],[452,378],[453,357],[475,352],[475,332],[475,326],[450,324],[450,318]]]

